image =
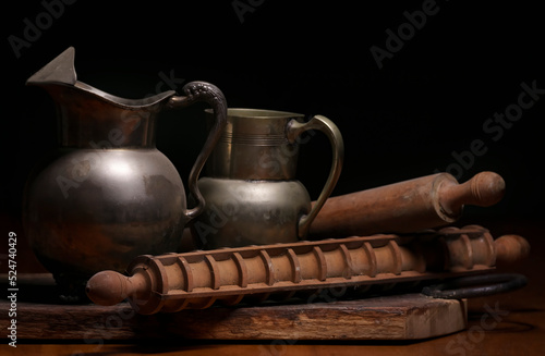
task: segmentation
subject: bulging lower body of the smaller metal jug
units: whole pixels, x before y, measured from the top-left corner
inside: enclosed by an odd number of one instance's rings
[[[203,177],[206,201],[192,223],[201,248],[298,242],[298,225],[311,210],[311,198],[299,181],[245,181]]]

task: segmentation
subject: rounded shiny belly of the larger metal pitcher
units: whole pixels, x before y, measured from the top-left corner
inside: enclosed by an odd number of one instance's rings
[[[90,277],[174,251],[184,207],[178,171],[157,149],[63,149],[28,180],[23,221],[51,273]]]

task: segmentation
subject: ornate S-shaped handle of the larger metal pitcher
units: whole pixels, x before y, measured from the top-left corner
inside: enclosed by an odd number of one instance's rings
[[[197,180],[206,160],[218,143],[227,124],[227,100],[217,86],[206,82],[187,83],[183,86],[182,91],[185,96],[173,96],[169,99],[168,106],[170,108],[185,108],[195,102],[204,101],[211,107],[215,116],[214,126],[210,128],[208,137],[206,138],[206,142],[201,149],[201,154],[198,154],[197,159],[191,169],[190,177],[187,179],[187,188],[193,198],[195,198],[196,204],[194,208],[185,211],[185,217],[191,220],[197,217],[205,207],[205,200],[198,189]]]

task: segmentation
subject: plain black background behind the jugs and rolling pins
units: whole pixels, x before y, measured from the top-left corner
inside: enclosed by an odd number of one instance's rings
[[[233,1],[75,1],[65,4],[16,58],[10,36],[24,39],[40,1],[3,4],[2,210],[19,217],[32,167],[57,145],[49,97],[25,87],[27,77],[70,46],[78,79],[107,93],[142,98],[156,93],[159,73],[207,81],[230,107],[323,114],[344,137],[346,161],[334,195],[393,183],[455,161],[452,151],[482,139],[487,151],[463,170],[501,174],[505,199],[470,208],[469,218],[538,219],[543,212],[545,96],[494,142],[483,123],[517,102],[521,83],[545,88],[544,20],[538,2],[439,1],[435,15],[385,59],[403,12],[424,1],[246,1],[243,21]],[[60,10],[59,10],[60,11]],[[12,37],[13,38],[13,37]],[[162,89],[169,89],[162,86]],[[178,87],[181,89],[181,86]],[[206,132],[203,108],[159,118],[157,147],[186,182]],[[302,147],[299,179],[315,199],[329,170],[322,135]],[[10,228],[7,228],[10,229]]]

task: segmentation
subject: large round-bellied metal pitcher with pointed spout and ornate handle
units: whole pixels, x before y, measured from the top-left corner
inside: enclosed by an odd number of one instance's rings
[[[23,221],[41,263],[59,284],[84,283],[101,270],[124,271],[138,255],[175,251],[183,226],[204,202],[196,184],[226,124],[221,91],[205,82],[133,100],[76,79],[69,48],[27,81],[53,99],[60,147],[31,174]],[[187,209],[180,175],[155,146],[157,114],[205,101],[215,126],[189,177],[196,207]],[[84,285],[84,284],[83,284]]]

